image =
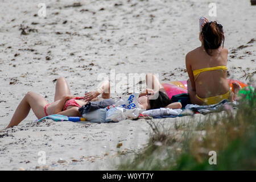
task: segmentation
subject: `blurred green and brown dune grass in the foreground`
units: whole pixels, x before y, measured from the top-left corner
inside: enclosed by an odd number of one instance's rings
[[[151,122],[154,133],[148,147],[118,169],[256,170],[255,101],[252,92],[240,100],[235,111],[209,114],[200,122],[191,117],[189,123],[175,123],[172,130],[160,130]],[[177,137],[180,131],[183,135]],[[209,151],[216,151],[216,165],[209,164]]]

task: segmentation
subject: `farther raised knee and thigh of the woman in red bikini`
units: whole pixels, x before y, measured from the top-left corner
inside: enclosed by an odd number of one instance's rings
[[[68,88],[68,82],[64,77],[59,77],[55,86],[55,97],[54,101],[61,100],[63,96],[70,95],[70,90]]]

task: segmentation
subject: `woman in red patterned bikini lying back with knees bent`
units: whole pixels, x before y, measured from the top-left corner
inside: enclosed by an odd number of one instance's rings
[[[110,87],[108,81],[102,82],[96,91],[86,93],[85,97],[75,97],[71,96],[71,92],[65,78],[60,77],[57,79],[55,86],[54,102],[49,104],[49,102],[39,94],[28,92],[18,105],[13,118],[11,118],[9,125],[6,128],[19,125],[19,123],[27,117],[30,109],[33,110],[38,119],[51,114],[61,114],[71,117],[80,116],[79,107],[87,104],[90,100],[93,100],[100,94],[104,99],[110,98]]]

